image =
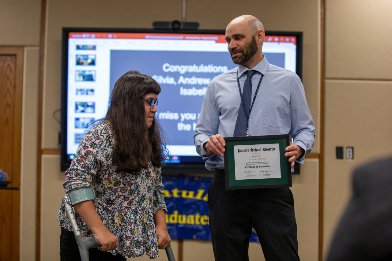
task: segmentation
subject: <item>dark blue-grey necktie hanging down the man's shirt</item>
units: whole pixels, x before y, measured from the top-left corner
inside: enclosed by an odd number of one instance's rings
[[[248,71],[247,78],[244,83],[244,88],[242,91],[242,98],[245,103],[245,111],[248,114],[250,108],[250,97],[252,96],[252,76],[256,71]],[[236,127],[234,128],[233,137],[246,136],[247,120],[248,116],[245,115],[242,103],[240,103],[240,109],[238,110]]]

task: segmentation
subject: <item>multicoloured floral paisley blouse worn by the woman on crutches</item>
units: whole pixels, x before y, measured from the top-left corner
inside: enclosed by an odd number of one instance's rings
[[[65,192],[74,188],[93,186],[94,205],[103,224],[117,237],[118,248],[109,251],[123,257],[147,254],[158,257],[158,238],[153,216],[165,204],[158,204],[155,190],[163,193],[161,169],[148,165],[139,172],[117,172],[112,162],[113,131],[104,121],[95,125],[83,137],[69,169],[65,171]],[[93,233],[75,213],[83,236]],[[57,221],[65,230],[71,224],[61,204]]]

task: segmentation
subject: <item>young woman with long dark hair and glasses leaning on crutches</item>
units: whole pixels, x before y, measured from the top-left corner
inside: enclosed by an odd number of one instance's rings
[[[143,254],[155,258],[158,248],[171,242],[166,205],[155,196],[155,190],[163,193],[160,167],[165,152],[154,119],[160,91],[155,80],[138,71],[121,76],[105,118],[84,136],[65,172],[66,193],[91,188],[95,193],[95,199],[73,205],[82,235],[94,237],[107,251],[90,249],[90,260]],[[61,260],[80,260],[63,204],[57,221]]]

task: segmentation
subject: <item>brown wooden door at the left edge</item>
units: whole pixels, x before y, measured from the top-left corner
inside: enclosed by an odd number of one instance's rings
[[[19,260],[20,140],[23,48],[0,47],[0,260]]]

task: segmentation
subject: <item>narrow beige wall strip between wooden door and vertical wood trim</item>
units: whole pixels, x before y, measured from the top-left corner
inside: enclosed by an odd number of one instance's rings
[[[39,47],[26,47],[20,168],[20,260],[35,253]],[[22,251],[23,250],[23,251]]]

